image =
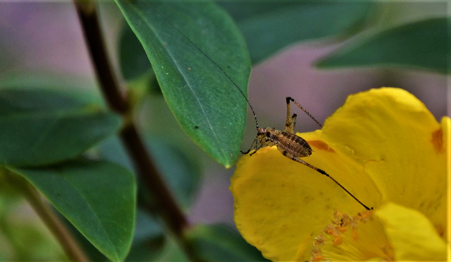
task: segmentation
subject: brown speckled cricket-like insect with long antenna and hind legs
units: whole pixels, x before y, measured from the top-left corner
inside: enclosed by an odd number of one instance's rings
[[[256,142],[260,143],[260,146],[251,154],[255,154],[255,152],[258,151],[258,149],[261,149],[263,146],[276,146],[277,149],[287,158],[290,158],[291,160],[294,160],[298,163],[304,164],[307,167],[312,168],[313,170],[317,171],[318,173],[325,175],[329,177],[332,181],[334,181],[337,185],[339,185],[343,190],[345,190],[346,193],[348,193],[353,199],[355,199],[359,204],[361,204],[366,210],[370,210],[373,208],[368,208],[364,203],[360,202],[359,199],[357,199],[353,194],[351,194],[348,190],[345,189],[340,183],[338,183],[334,178],[332,178],[329,174],[327,174],[322,169],[319,169],[317,167],[314,167],[310,165],[309,163],[305,162],[304,160],[300,159],[303,157],[308,157],[312,154],[312,148],[310,145],[308,145],[307,141],[304,140],[300,136],[296,136],[295,134],[295,126],[296,126],[296,113],[291,115],[290,113],[290,101],[293,102],[295,105],[297,105],[299,108],[301,108],[304,113],[306,113],[309,117],[313,119],[320,127],[322,127],[321,123],[318,122],[310,113],[308,113],[307,110],[305,110],[300,104],[298,104],[295,99],[292,99],[291,97],[286,97],[286,122],[285,122],[285,130],[279,131],[275,128],[260,128],[258,126],[257,116],[255,115],[255,112],[252,108],[252,105],[249,102],[249,99],[244,95],[243,91],[239,89],[239,87],[235,84],[235,82],[227,75],[222,68],[215,63],[210,57],[207,56],[197,45],[195,45],[187,36],[185,36],[182,32],[177,29],[172,23],[170,23],[163,15],[161,15],[157,10],[155,10],[156,13],[158,13],[163,19],[165,19],[172,27],[175,28],[181,35],[183,35],[191,44],[193,44],[194,47],[196,47],[207,59],[209,59],[212,63],[216,65],[217,68],[221,70],[221,72],[226,75],[226,77],[233,83],[233,85],[239,90],[241,95],[243,95],[244,99],[246,99],[247,103],[249,104],[249,107],[251,108],[251,111],[253,113],[255,124],[257,128],[257,136],[255,136],[255,139],[253,140],[252,145],[250,146],[249,150],[246,152],[241,151],[242,154],[249,154],[250,150],[252,149],[253,145],[257,145]]]

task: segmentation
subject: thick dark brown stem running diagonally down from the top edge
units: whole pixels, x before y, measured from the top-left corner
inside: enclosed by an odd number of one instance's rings
[[[110,108],[127,118],[129,108],[127,101],[121,95],[118,81],[106,53],[96,9],[91,5],[86,5],[86,2],[81,3],[81,0],[75,0],[75,5],[102,93]],[[188,221],[158,174],[143,140],[131,121],[124,126],[120,132],[120,137],[137,167],[141,181],[146,185],[149,192],[155,196],[156,211],[161,214],[170,230],[180,238],[184,228],[188,227]]]

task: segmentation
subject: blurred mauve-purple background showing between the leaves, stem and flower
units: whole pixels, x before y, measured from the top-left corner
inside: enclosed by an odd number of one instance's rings
[[[387,16],[390,19],[384,21],[398,23],[446,12],[446,9],[422,8],[420,5],[403,10],[399,17],[391,14]],[[121,14],[114,4],[102,5],[101,11],[110,54],[119,72],[117,39],[124,21],[118,19]],[[437,120],[446,115],[448,85],[445,76],[405,69],[320,70],[311,66],[337,47],[314,41],[294,45],[253,68],[249,100],[260,126],[283,127],[285,96],[288,95],[324,122],[344,103],[347,95],[381,86],[410,91],[426,104]],[[55,77],[79,77],[91,83],[86,88],[95,88],[93,68],[70,2],[0,3],[0,49],[0,81],[23,72],[50,73]],[[307,116],[298,115],[297,131],[317,129],[318,126]],[[247,149],[255,135],[253,117],[248,118],[242,149]],[[233,199],[228,190],[232,173],[233,169],[225,170],[212,161],[208,162],[190,221],[234,223]]]

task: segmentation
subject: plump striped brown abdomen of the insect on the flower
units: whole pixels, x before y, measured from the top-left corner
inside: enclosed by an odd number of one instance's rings
[[[295,134],[281,132],[278,136],[278,142],[278,148],[283,149],[296,157],[303,158],[312,154],[312,148],[310,148],[307,141]]]

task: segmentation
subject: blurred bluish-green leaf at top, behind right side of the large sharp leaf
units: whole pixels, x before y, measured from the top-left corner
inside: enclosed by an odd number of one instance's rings
[[[252,63],[298,41],[349,35],[365,25],[374,5],[368,1],[266,0],[222,4],[246,37]]]

